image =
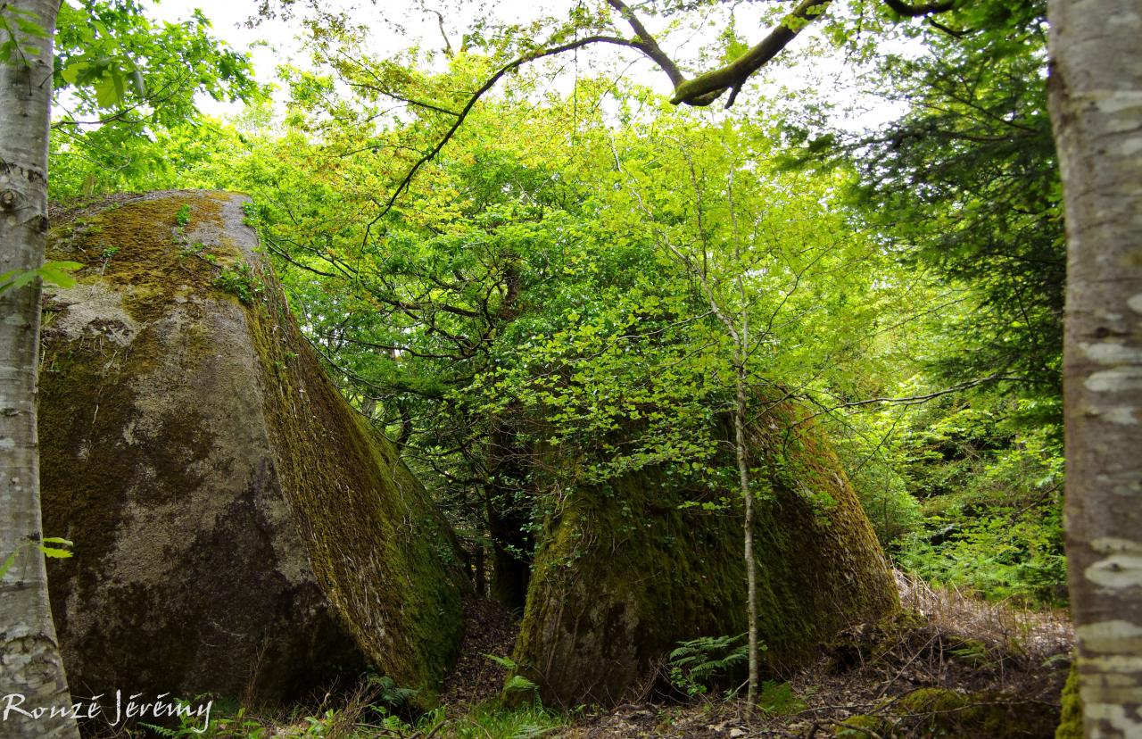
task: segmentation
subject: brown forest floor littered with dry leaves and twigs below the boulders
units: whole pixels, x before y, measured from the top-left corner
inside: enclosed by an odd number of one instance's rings
[[[700,697],[644,697],[580,712],[541,734],[564,739],[750,737],[1054,736],[1070,667],[1064,613],[1023,611],[896,573],[906,616],[843,634],[817,664],[769,682],[765,710]],[[515,632],[499,607],[473,601],[465,654],[443,701],[453,715],[493,699],[504,668],[484,654],[509,654]],[[437,736],[448,736],[447,726]]]

